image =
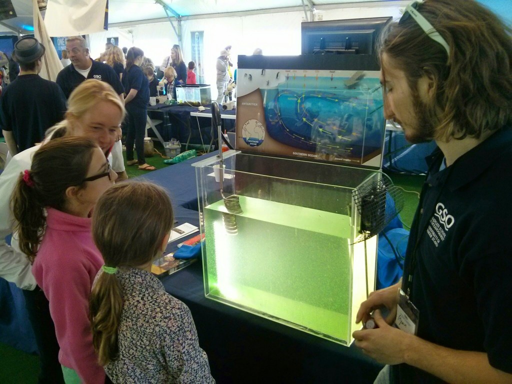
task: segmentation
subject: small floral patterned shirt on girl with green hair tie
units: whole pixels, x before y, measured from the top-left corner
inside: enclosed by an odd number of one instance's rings
[[[102,273],[100,270],[99,274]],[[188,307],[150,272],[116,273],[123,291],[119,358],[105,366],[114,383],[215,383]]]

